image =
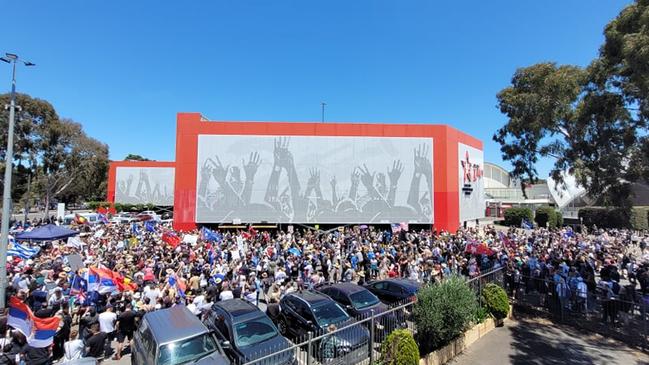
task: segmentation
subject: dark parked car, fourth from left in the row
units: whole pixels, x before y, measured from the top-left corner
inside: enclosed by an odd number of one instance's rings
[[[340,304],[347,313],[356,318],[368,318],[372,312],[377,316],[374,321],[376,339],[382,339],[394,329],[403,327],[405,321],[394,313],[380,315],[390,308],[382,303],[376,295],[366,288],[353,283],[325,284],[316,288],[320,293],[328,295]],[[370,322],[364,322],[369,328]]]

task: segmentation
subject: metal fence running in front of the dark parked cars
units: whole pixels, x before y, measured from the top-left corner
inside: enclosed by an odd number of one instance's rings
[[[379,358],[381,343],[390,332],[408,328],[416,333],[410,320],[413,304],[408,301],[385,312],[372,312],[339,324],[332,330],[309,332],[293,339],[289,347],[266,348],[263,353],[252,354],[249,358],[256,359],[242,365],[373,364]]]

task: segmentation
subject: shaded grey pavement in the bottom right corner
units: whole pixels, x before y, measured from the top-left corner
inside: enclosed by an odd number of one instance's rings
[[[649,355],[597,334],[541,318],[507,321],[479,339],[452,365],[649,364]]]

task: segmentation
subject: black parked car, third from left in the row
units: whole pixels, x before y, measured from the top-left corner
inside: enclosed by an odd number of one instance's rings
[[[356,321],[328,296],[315,291],[290,293],[280,300],[279,307],[276,320],[280,332],[298,340],[304,340],[309,332],[323,335],[332,324],[338,329],[345,327],[312,343],[319,361],[329,363],[335,359],[336,363],[354,364],[369,356],[367,328],[354,326]],[[335,343],[335,354],[323,351],[326,341]]]

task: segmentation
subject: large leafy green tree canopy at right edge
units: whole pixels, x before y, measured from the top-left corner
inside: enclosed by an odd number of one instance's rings
[[[539,158],[553,158],[555,180],[572,174],[601,204],[627,206],[630,184],[649,178],[649,0],[625,8],[604,35],[588,67],[518,69],[497,95],[509,120],[494,140],[514,178],[535,182]]]

